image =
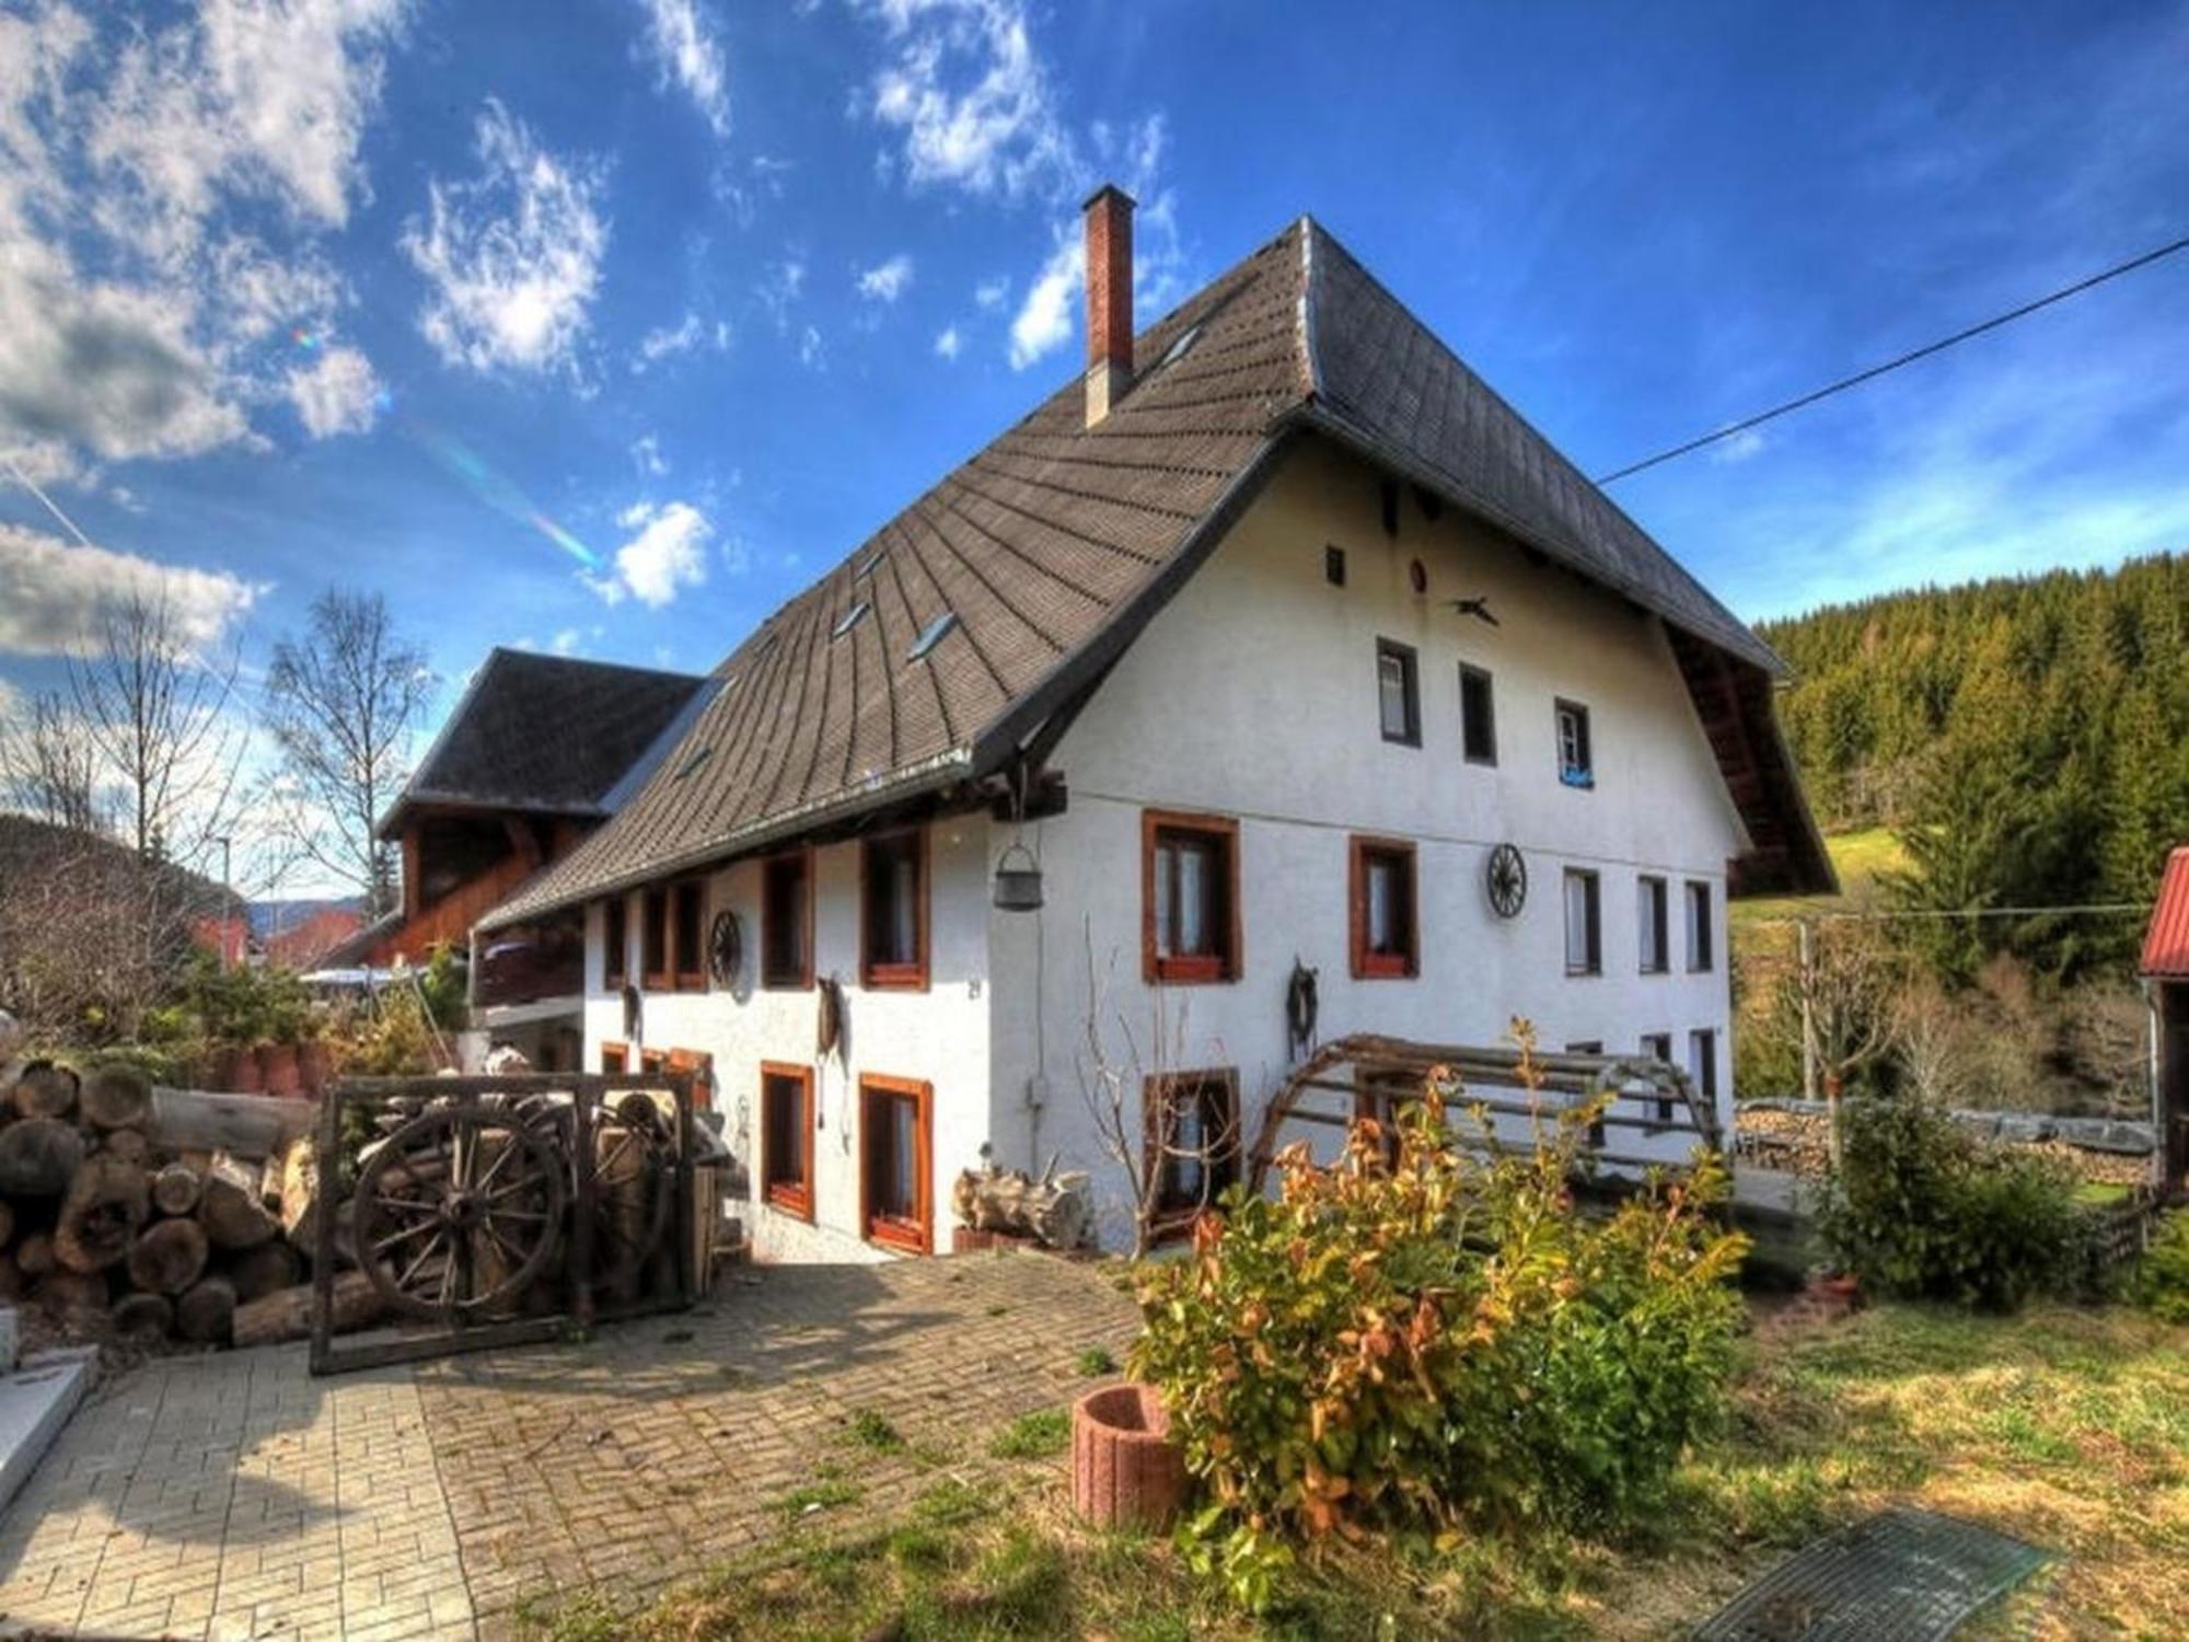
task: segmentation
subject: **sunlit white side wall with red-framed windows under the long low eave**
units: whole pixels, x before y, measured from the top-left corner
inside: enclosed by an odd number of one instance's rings
[[[858,1226],[858,1079],[862,1073],[926,1079],[933,1097],[935,1246],[950,1248],[950,1182],[978,1163],[987,1138],[987,821],[961,817],[928,828],[930,935],[926,992],[858,985],[858,845],[814,849],[814,974],[845,990],[845,1055],[814,1057],[816,992],[753,985],[760,963],[760,863],[740,860],[707,882],[707,920],[731,909],[744,926],[746,979],[738,992],[648,992],[639,1049],[714,1055],[716,1106],[727,1138],[753,1173],[746,1224],[762,1259],[882,1259]],[[604,1042],[624,1040],[624,1005],[602,987],[604,915],[587,924],[587,1066]],[[637,976],[637,900],[628,920]],[[814,1068],[814,1219],[768,1209],[760,1195],[760,1062]]]

